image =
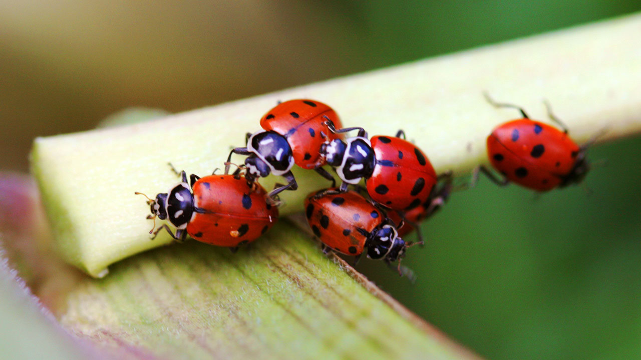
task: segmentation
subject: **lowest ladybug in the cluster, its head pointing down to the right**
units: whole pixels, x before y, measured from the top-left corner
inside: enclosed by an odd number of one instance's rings
[[[325,252],[335,250],[355,256],[363,252],[370,259],[383,259],[388,265],[403,258],[412,245],[398,236],[386,214],[354,191],[320,190],[304,202],[307,222],[314,235],[325,245]]]

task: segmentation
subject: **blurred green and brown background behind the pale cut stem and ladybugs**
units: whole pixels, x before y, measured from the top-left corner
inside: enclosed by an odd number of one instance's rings
[[[190,110],[638,10],[595,0],[4,1],[0,168],[26,171],[34,136],[91,129],[128,106]],[[640,359],[640,145],[590,151],[608,160],[588,176],[591,195],[537,198],[483,180],[455,193],[404,263],[415,286],[380,263],[360,270],[488,359]]]

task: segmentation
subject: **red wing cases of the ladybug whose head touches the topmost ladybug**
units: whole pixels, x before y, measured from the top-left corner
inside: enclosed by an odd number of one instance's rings
[[[426,202],[437,184],[428,157],[411,142],[398,137],[372,136],[376,164],[365,180],[372,200],[393,210],[411,210]]]

